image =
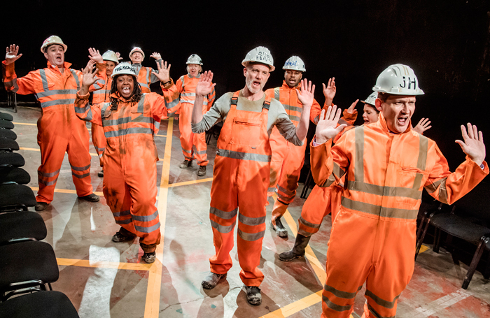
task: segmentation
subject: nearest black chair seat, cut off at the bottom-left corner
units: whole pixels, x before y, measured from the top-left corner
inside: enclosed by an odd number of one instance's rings
[[[38,291],[0,303],[0,316],[9,318],[79,318],[73,304],[60,291]]]

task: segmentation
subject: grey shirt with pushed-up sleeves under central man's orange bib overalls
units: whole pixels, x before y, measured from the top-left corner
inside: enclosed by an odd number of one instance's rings
[[[203,115],[202,121],[197,124],[191,124],[193,133],[203,133],[218,122],[225,122],[228,112],[230,111],[231,99],[233,93],[228,92],[223,94],[211,107],[211,109]],[[251,112],[260,113],[262,105],[265,101],[265,94],[258,101],[249,101],[240,92],[238,96],[237,110],[248,110]],[[270,101],[269,113],[267,113],[267,133],[272,133],[272,127],[276,126],[279,133],[294,145],[303,145],[303,140],[297,138],[296,127],[290,121],[286,110],[279,101],[272,99]]]

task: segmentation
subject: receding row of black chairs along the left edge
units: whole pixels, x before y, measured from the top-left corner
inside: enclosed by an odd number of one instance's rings
[[[25,160],[15,152],[9,116],[0,113],[0,273],[6,274],[0,275],[0,317],[78,317],[69,299],[52,291],[59,277],[56,256],[51,245],[39,242],[46,226],[29,211],[36,197],[26,186],[31,178],[20,168]]]

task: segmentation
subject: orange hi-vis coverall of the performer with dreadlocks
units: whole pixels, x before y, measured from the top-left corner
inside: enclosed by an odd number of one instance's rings
[[[139,236],[144,252],[154,252],[160,244],[160,219],[155,207],[158,152],[153,136],[158,132],[157,123],[167,116],[165,99],[148,93],[133,103],[116,93],[111,97],[119,100],[118,109],[111,110],[111,103],[90,106],[88,96],[77,94],[77,115],[104,127],[107,205],[117,224]]]

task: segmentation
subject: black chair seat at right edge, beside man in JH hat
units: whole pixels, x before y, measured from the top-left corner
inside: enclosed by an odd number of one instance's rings
[[[430,222],[444,232],[478,244],[482,236],[489,234],[490,229],[478,224],[477,219],[460,217],[450,213],[440,213],[434,215]]]

